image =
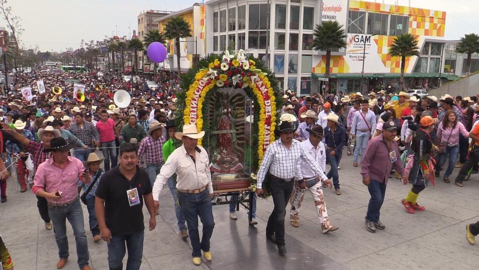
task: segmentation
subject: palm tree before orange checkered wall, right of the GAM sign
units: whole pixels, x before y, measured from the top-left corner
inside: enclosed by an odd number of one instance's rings
[[[399,90],[404,91],[404,67],[406,57],[419,56],[418,40],[411,34],[402,34],[394,37],[393,44],[389,48],[391,56],[401,57],[401,77],[399,77]]]

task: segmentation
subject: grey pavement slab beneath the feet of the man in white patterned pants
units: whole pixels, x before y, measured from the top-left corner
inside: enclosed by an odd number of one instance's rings
[[[334,216],[331,218],[334,220]],[[340,230],[322,234],[318,224],[312,221],[301,223],[299,228],[286,226],[286,232],[289,235],[339,263],[348,262],[373,252],[362,244],[341,237],[340,234],[337,234]],[[286,245],[288,248],[288,242]]]

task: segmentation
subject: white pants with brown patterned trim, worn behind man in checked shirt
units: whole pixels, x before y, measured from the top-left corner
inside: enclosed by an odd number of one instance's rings
[[[331,221],[329,221],[326,204],[324,203],[323,189],[321,185],[321,181],[319,181],[316,185],[310,188],[300,189],[298,186],[298,182],[295,181],[295,188],[290,199],[290,219],[292,221],[299,221],[299,208],[301,207],[301,202],[304,199],[304,194],[306,193],[306,190],[309,189],[316,204],[316,211],[318,212],[318,218],[319,223],[321,224],[322,233],[326,233],[332,225]]]

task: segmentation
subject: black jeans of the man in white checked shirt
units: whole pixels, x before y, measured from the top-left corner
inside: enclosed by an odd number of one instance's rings
[[[285,182],[268,178],[269,190],[273,197],[274,208],[268,218],[266,234],[275,235],[278,246],[285,245],[285,215],[286,205],[293,193],[294,181]]]

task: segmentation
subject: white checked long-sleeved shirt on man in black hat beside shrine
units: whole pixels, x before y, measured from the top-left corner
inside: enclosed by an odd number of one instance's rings
[[[299,159],[302,159],[311,167],[313,172],[321,178],[321,181],[327,179],[319,167],[319,164],[309,155],[308,151],[301,143],[293,139],[290,148],[278,139],[271,143],[264,153],[263,161],[259,166],[257,176],[257,188],[261,189],[266,173],[269,171],[272,175],[281,179],[302,180],[301,169],[297,166]]]

